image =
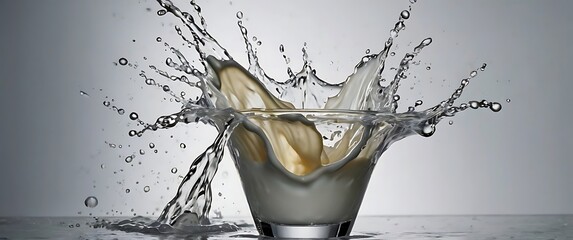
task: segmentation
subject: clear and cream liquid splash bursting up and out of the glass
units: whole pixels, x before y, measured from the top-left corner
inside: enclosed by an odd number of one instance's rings
[[[385,80],[381,77],[385,70],[385,62],[389,55],[393,55],[390,49],[400,31],[405,28],[406,20],[411,17],[409,11],[411,6],[409,10],[404,10],[399,14],[398,21],[390,30],[390,37],[384,42],[384,47],[379,53],[367,53],[343,83],[331,84],[316,75],[316,71],[308,61],[306,46],[302,49],[304,64],[301,71],[293,73],[292,69],[288,68],[289,78],[283,82],[267,76],[259,64],[253,42],[250,41],[247,28],[244,26],[242,12],[237,13],[237,23],[248,53],[248,69],[236,63],[227,50],[209,34],[206,21],[201,15],[201,7],[194,1],[190,3],[192,7],[190,12],[182,11],[170,0],[157,0],[157,2],[162,7],[157,12],[158,15],[171,14],[181,21],[184,28],[175,26],[175,30],[187,46],[198,53],[197,60],[200,65],[194,66],[183,52],[165,43],[165,46],[176,57],[175,60],[171,57],[167,58],[165,64],[171,69],[170,71],[175,73],[169,73],[156,66],[150,66],[150,68],[162,78],[183,82],[192,88],[199,89],[201,95],[190,99],[183,93],[176,94],[168,85],[158,83],[142,71],[140,76],[147,85],[156,86],[167,92],[177,102],[181,102],[183,107],[180,112],[159,117],[153,124],[138,120],[144,128],[131,130],[129,135],[141,136],[146,131],[168,129],[179,123],[197,122],[214,126],[219,134],[213,144],[192,162],[175,196],[165,206],[157,221],[148,227],[209,224],[208,214],[212,201],[210,184],[222,159],[224,147],[233,131],[238,129],[238,126],[252,120],[246,115],[246,111],[322,109],[348,112],[350,115],[367,113],[360,120],[363,124],[385,124],[385,128],[373,133],[377,134],[379,139],[375,146],[376,157],[379,157],[392,143],[407,136],[419,134],[429,137],[433,135],[436,125],[442,119],[453,117],[468,108],[489,108],[494,112],[501,110],[499,103],[486,100],[455,104],[471,80],[480,71],[485,70],[486,64],[484,63],[479,68],[470,71],[452,95],[439,104],[418,111],[417,107],[422,104],[421,100],[418,100],[414,106],[408,108],[408,111],[402,113],[396,111],[400,100],[397,90],[401,81],[407,78],[407,73],[416,57],[432,43],[431,38],[423,39],[411,52],[405,54],[399,66],[395,68],[394,78],[385,84]],[[254,43],[257,44],[256,41]],[[279,51],[284,54],[283,45],[279,46]],[[283,57],[287,60],[286,56],[283,55]],[[269,137],[270,141],[272,141],[271,138],[272,136]],[[352,149],[360,147],[358,145]],[[351,149],[349,147],[346,150]],[[275,157],[281,158],[281,156]],[[302,170],[297,170],[301,168],[296,168],[296,166],[289,169],[288,162],[284,159],[281,161],[284,167],[295,175],[311,174],[317,168],[321,168],[319,164],[319,166],[308,168],[302,166]]]

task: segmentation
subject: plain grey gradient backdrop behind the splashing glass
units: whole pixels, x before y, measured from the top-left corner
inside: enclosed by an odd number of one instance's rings
[[[162,62],[172,55],[156,37],[184,48],[173,30],[179,22],[157,16],[155,1],[2,3],[0,215],[157,215],[178,175],[215,132],[189,125],[132,139],[127,132],[135,126],[127,114],[118,115],[102,102],[113,99],[147,122],[178,110],[137,75],[151,72],[150,64],[166,69]],[[286,77],[279,44],[298,69],[306,41],[313,66],[331,82],[350,74],[367,48],[379,51],[408,6],[405,0],[199,3],[209,31],[239,62],[246,63],[235,19],[242,10],[249,33],[263,41],[260,59],[270,75]],[[186,1],[179,4],[189,9]],[[464,112],[453,125],[440,124],[429,139],[413,136],[394,144],[374,172],[360,214],[573,213],[573,161],[567,154],[573,120],[570,9],[573,3],[566,0],[416,4],[396,41],[397,56],[425,37],[434,43],[411,70],[416,79],[404,82],[402,106],[418,98],[425,107],[438,103],[487,62],[462,100],[485,98],[504,107],[499,113]],[[120,57],[137,69],[114,66]],[[150,142],[159,153],[152,153]],[[180,142],[187,148],[179,148]],[[123,161],[132,153],[137,155],[133,166]],[[179,172],[171,174],[172,167]],[[215,195],[213,208],[224,216],[248,215],[229,158],[214,192],[220,196]],[[83,206],[90,195],[100,201],[96,208]]]

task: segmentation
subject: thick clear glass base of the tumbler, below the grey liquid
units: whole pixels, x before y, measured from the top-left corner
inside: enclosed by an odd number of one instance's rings
[[[259,234],[276,238],[336,238],[350,235],[353,221],[323,225],[284,225],[255,220]]]

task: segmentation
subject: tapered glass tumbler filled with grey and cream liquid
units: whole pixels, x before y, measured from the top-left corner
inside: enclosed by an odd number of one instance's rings
[[[382,150],[379,133],[387,124],[372,121],[374,113],[358,111],[241,113],[247,121],[233,131],[228,145],[259,233],[348,236]],[[313,151],[320,159],[300,157]],[[283,163],[289,158],[320,164]]]

